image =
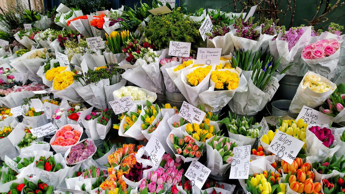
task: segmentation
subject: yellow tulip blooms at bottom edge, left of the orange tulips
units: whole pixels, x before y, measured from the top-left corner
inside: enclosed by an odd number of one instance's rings
[[[267,178],[265,178],[264,174],[257,174],[255,177],[252,177],[247,180],[247,186],[246,189],[250,193],[258,193],[258,194],[284,194],[285,193],[285,184],[280,183],[279,185],[273,185],[271,186],[271,182],[267,181]],[[254,191],[255,190],[255,191]]]

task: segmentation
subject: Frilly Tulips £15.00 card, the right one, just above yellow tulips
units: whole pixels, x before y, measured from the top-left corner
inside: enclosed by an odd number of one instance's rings
[[[203,122],[206,113],[197,107],[183,101],[180,112],[178,113],[182,118],[190,123],[197,123],[200,125]]]

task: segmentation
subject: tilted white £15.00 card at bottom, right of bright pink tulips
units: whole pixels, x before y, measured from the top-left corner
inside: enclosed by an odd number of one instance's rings
[[[201,187],[203,187],[203,185],[205,184],[206,179],[208,175],[210,175],[210,173],[211,173],[210,169],[208,169],[206,166],[204,166],[200,162],[193,160],[190,163],[185,176],[190,181],[194,181],[195,185],[201,189]]]

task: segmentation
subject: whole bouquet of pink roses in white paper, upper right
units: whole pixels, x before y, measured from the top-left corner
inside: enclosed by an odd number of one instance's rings
[[[340,46],[336,39],[318,40],[304,47],[302,58],[307,63],[309,71],[332,79],[339,61]]]

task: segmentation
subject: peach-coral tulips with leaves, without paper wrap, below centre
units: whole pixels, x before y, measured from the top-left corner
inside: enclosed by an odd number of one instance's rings
[[[195,144],[195,140],[189,136],[183,135],[182,138],[179,138],[170,134],[170,141],[174,144],[177,154],[182,154],[184,157],[200,158],[203,155],[203,144],[199,147]]]

